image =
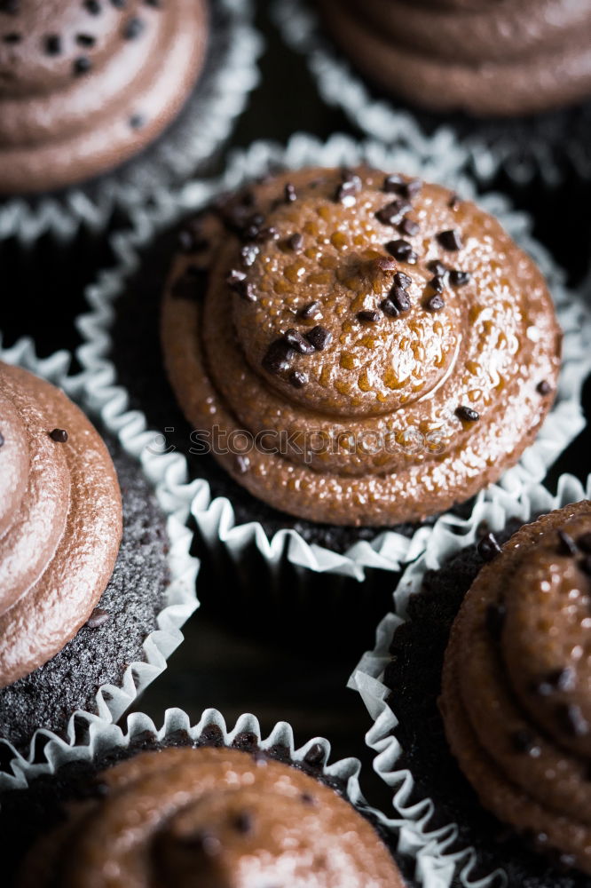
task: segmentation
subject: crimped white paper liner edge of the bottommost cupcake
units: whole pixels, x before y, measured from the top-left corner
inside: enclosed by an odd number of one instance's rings
[[[159,741],[163,741],[170,733],[177,731],[186,732],[192,740],[197,740],[207,727],[216,725],[222,732],[223,741],[227,746],[232,745],[237,734],[241,732],[253,733],[261,749],[270,749],[280,744],[288,749],[289,757],[295,762],[303,761],[308,750],[318,743],[324,750],[322,774],[343,781],[351,805],[369,815],[371,820],[379,823],[384,830],[392,834],[394,836],[392,844],[395,844],[398,838],[398,853],[415,861],[414,878],[416,883],[422,885],[422,888],[449,888],[451,884],[452,869],[448,866],[442,867],[438,860],[433,859],[429,850],[417,840],[412,823],[400,818],[386,817],[384,813],[367,805],[359,786],[361,763],[358,758],[342,758],[328,764],[330,742],[324,737],[314,737],[296,749],[294,731],[288,722],[278,722],[271,733],[267,737],[263,737],[256,716],[249,713],[241,715],[233,728],[228,728],[223,715],[214,709],[205,710],[196,725],[192,725],[191,719],[183,710],[166,710],[164,724],[160,729],[156,728],[151,718],[141,712],[132,712],[128,716],[126,729],[117,725],[109,725],[102,719],[88,713],[84,718],[88,725],[88,739],[86,741],[75,742],[73,726],[71,726],[67,740],[62,740],[51,731],[40,732],[43,737],[47,738],[43,747],[43,761],[34,764],[30,758],[16,756],[11,763],[12,773],[0,773],[0,791],[26,789],[29,782],[41,774],[55,773],[60,766],[66,765],[68,762],[90,762],[93,757],[104,755],[109,750],[126,748],[134,738],[144,732],[156,734]]]

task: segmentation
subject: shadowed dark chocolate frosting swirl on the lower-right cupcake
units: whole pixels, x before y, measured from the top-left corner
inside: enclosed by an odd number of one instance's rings
[[[591,873],[591,502],[522,527],[482,568],[441,709],[486,808]]]

